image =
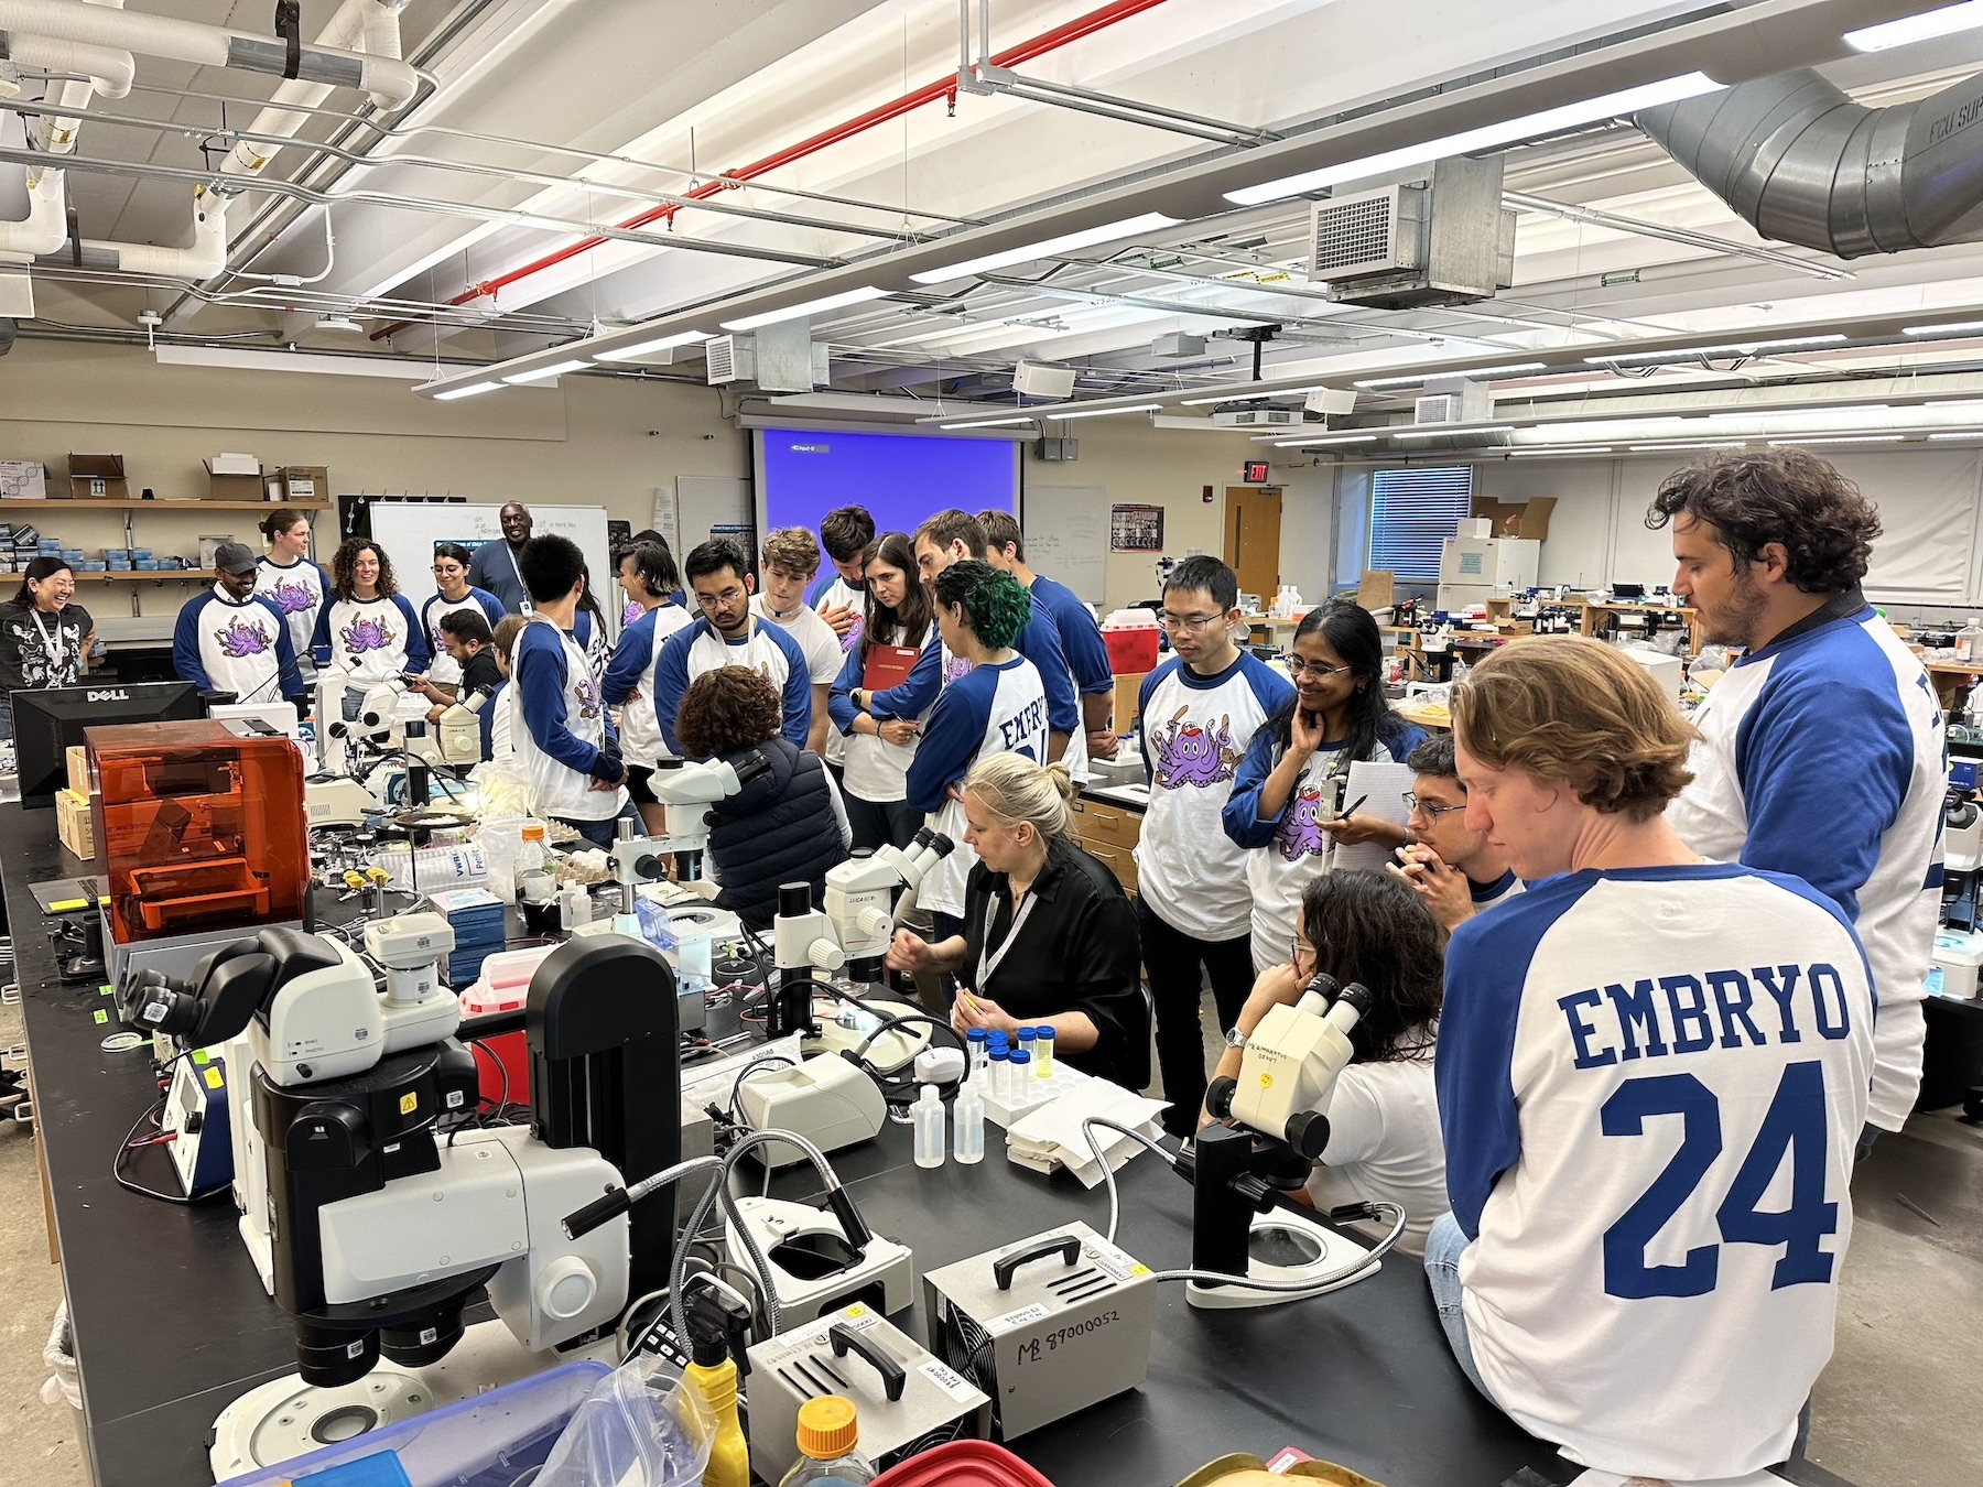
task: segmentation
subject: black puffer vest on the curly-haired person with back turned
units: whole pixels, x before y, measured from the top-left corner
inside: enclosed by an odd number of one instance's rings
[[[710,815],[710,855],[724,890],[716,902],[754,930],[777,916],[777,888],[809,882],[817,906],[827,890],[827,868],[847,860],[841,823],[833,815],[827,767],[815,753],[801,753],[787,738],[759,744],[771,771],[758,775]],[[726,753],[742,763],[752,749]]]

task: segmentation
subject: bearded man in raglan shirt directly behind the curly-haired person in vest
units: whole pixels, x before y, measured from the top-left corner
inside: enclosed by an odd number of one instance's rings
[[[785,726],[779,730],[797,749],[813,728],[813,680],[799,642],[775,625],[752,615],[750,597],[758,587],[744,549],[728,537],[712,537],[688,553],[682,577],[696,597],[702,619],[668,636],[654,662],[654,718],[660,742],[670,753],[674,744],[674,710],[682,706],[688,684],[718,666],[750,666],[771,678],[785,700]]]

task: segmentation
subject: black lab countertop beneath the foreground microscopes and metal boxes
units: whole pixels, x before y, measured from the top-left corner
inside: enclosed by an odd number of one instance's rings
[[[292,1372],[288,1318],[262,1291],[226,1198],[175,1207],[121,1190],[111,1156],[157,1085],[149,1053],[107,1053],[115,1013],[95,985],[63,989],[30,882],[75,876],[52,811],[0,805],[0,882],[14,932],[36,1114],[48,1160],[63,1281],[83,1380],[85,1453],[99,1487],[206,1487],[206,1431],[248,1388]],[[869,1223],[948,1265],[1081,1217],[1105,1229],[1087,1192],[1001,1160],[920,1170],[904,1126],[849,1150],[839,1172]],[[143,1180],[171,1186],[165,1158]],[[1190,1261],[1190,1190],[1154,1158],[1120,1176],[1118,1241],[1156,1269]],[[789,1168],[773,1192],[817,1184]],[[914,1318],[924,1334],[920,1281]],[[1180,1285],[1158,1293],[1148,1382],[1015,1441],[1059,1487],[1162,1487],[1225,1451],[1297,1445],[1388,1487],[1527,1487],[1575,1475],[1555,1451],[1481,1400],[1448,1352],[1418,1263],[1392,1255],[1346,1291],[1249,1311],[1196,1311]],[[1795,1481],[1834,1481],[1799,1463]]]

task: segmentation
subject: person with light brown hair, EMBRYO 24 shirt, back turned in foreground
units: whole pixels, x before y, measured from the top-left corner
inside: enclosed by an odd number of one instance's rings
[[[1866,956],[1824,894],[1674,835],[1695,734],[1612,646],[1503,646],[1452,710],[1467,825],[1529,890],[1446,950],[1440,1322],[1481,1392],[1575,1461],[1763,1471],[1832,1352]]]

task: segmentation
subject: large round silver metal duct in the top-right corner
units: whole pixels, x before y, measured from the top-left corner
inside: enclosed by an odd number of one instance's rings
[[[1862,258],[1983,240],[1983,77],[1868,109],[1801,67],[1634,123],[1775,242]]]

